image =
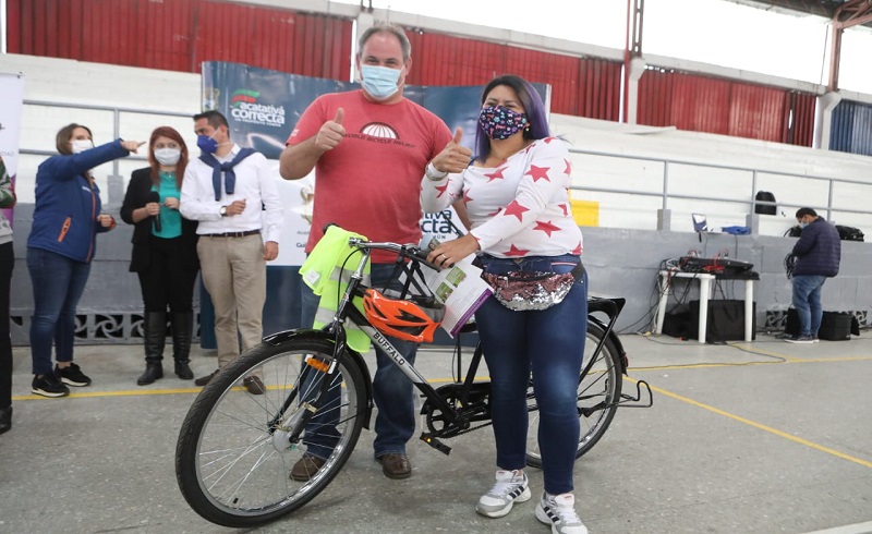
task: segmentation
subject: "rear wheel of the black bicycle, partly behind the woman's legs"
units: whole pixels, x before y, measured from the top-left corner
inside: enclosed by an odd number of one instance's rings
[[[600,325],[588,321],[583,366],[590,361],[596,345],[603,339],[603,335],[604,330]],[[623,384],[620,368],[618,349],[610,339],[606,339],[603,350],[597,354],[591,371],[586,376],[579,376],[578,406],[581,432],[579,433],[579,448],[576,452],[576,458],[581,458],[591,450],[606,433],[611,420],[615,418]],[[532,380],[526,398],[530,411],[526,430],[526,464],[531,468],[542,468],[542,454],[538,448],[538,406],[536,405]],[[582,409],[595,405],[601,405],[602,408],[595,410],[589,416],[583,414]]]

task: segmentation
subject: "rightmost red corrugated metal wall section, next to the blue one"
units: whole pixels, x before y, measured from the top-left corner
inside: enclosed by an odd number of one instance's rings
[[[812,146],[815,96],[731,80],[649,69],[638,122]]]

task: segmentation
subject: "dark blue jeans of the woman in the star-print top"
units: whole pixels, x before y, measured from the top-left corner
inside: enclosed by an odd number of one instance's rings
[[[497,275],[569,272],[579,262],[569,254],[482,259],[485,272]],[[578,384],[588,332],[586,272],[562,302],[547,310],[513,312],[492,296],[475,313],[475,321],[491,374],[497,466],[520,470],[526,464],[526,388],[532,371],[545,490],[552,495],[571,491],[580,432]]]

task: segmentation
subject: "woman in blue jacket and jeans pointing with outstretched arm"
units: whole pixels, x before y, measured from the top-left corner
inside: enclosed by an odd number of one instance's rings
[[[90,272],[96,235],[116,227],[112,216],[100,213],[100,190],[90,169],[136,153],[142,145],[116,139],[95,147],[90,130],[69,124],[56,137],[60,155],[48,158],[36,172],[34,222],[27,238],[27,270],[34,290],[32,391],[36,395],[64,397],[70,395],[68,385],[90,384],[73,363],[75,308]]]

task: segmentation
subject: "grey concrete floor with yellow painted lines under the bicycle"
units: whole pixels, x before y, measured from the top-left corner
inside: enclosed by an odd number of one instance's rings
[[[872,532],[872,332],[811,345],[768,336],[729,345],[622,341],[630,376],[651,384],[654,406],[619,410],[576,464],[577,508],[592,533]],[[14,353],[0,532],[232,531],[201,519],[175,483],[192,383],[170,374],[137,387],[140,347],[78,347],[94,385],[44,399],[29,395],[29,351]],[[431,379],[451,376],[444,351],[422,352],[419,364]],[[196,351],[192,366],[210,372],[214,354]],[[382,475],[371,442],[364,430],[325,493],[253,532],[548,532],[535,500],[502,519],[474,512],[493,481],[489,429],[448,441],[449,457],[413,440],[414,474],[401,482]],[[536,495],[542,475],[528,473]]]

